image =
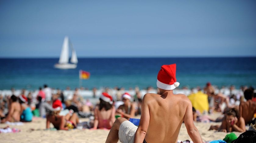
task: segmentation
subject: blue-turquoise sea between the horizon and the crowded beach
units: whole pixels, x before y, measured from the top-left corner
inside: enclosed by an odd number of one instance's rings
[[[176,63],[180,88],[256,85],[256,57],[247,58],[78,58],[76,69],[56,69],[58,58],[0,58],[0,90],[34,90],[47,84],[52,88],[79,87],[79,70],[91,77],[82,80],[88,89],[156,87],[162,65]]]

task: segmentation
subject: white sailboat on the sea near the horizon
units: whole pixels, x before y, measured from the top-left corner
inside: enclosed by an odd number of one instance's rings
[[[72,54],[71,59],[69,63],[69,47],[71,48]],[[61,54],[59,57],[59,63],[55,64],[55,68],[60,69],[70,69],[70,68],[76,68],[76,64],[78,63],[76,51],[73,48],[72,43],[69,41],[69,38],[66,36],[63,41]]]

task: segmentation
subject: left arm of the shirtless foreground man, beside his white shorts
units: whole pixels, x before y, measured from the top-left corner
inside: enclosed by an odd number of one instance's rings
[[[144,95],[141,103],[141,116],[140,124],[135,133],[134,143],[142,143],[148,130],[148,124],[150,119],[148,101],[151,99],[150,95]],[[192,111],[192,109],[191,109]]]

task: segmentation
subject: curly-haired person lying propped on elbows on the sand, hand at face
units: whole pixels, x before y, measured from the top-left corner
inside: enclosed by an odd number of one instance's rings
[[[244,118],[240,117],[240,113],[236,108],[230,108],[226,111],[222,124],[211,126],[209,130],[218,130],[223,132],[245,132]]]

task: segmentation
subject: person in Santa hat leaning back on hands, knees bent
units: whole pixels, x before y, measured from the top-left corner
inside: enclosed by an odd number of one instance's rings
[[[54,108],[54,111],[50,112],[46,117],[47,129],[50,128],[50,123],[52,123],[54,128],[57,130],[69,130],[76,128],[79,123],[79,118],[76,113],[69,113],[66,116],[60,116],[59,112],[62,109],[62,103],[59,99],[56,99],[53,102],[52,108]]]

